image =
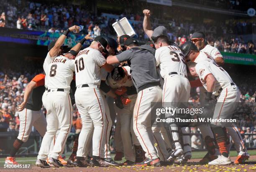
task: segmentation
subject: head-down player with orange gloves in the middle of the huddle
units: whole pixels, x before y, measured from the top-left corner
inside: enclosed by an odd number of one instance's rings
[[[136,152],[142,150],[140,149],[140,143],[133,131],[133,109],[137,99],[137,92],[131,79],[130,67],[124,66],[115,68],[115,70],[111,72],[111,75],[108,75],[108,84],[111,88],[116,89],[116,94],[121,96],[121,101],[123,102],[123,107],[116,106],[117,115],[120,117],[120,132],[126,160],[123,165],[133,165],[136,162],[136,154],[134,154],[133,145]],[[126,103],[126,101],[129,103]],[[138,156],[137,161],[139,161]]]

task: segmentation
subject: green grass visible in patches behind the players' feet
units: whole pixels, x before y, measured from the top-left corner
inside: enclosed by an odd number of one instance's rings
[[[192,152],[192,159],[200,159],[205,156],[207,152],[202,151],[202,152]],[[256,150],[248,150],[248,153],[250,155],[256,155]],[[69,157],[70,154],[66,154],[66,159]],[[111,155],[114,159],[114,154]],[[230,156],[231,157],[236,157],[237,152],[236,151],[230,151]],[[16,161],[20,164],[31,164],[34,165],[36,163],[36,157],[17,157]],[[119,163],[124,162],[125,159],[123,158],[122,161],[118,161]],[[0,167],[3,166],[5,163],[5,158],[0,158]]]

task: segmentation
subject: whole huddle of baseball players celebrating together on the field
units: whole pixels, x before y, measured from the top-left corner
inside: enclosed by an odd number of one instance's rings
[[[162,102],[163,107],[169,107],[171,102],[177,107],[180,102],[189,101],[191,87],[200,87],[201,105],[207,107],[213,99],[221,104],[214,107],[213,119],[232,115],[240,91],[220,66],[224,60],[219,50],[206,44],[201,31],[179,47],[169,41],[164,26],[151,29],[149,10],[143,13],[143,29],[152,40],[146,45],[139,46],[128,35],[118,37],[118,42],[99,36],[80,50],[86,40],[92,40],[89,34],[67,52],[63,43],[69,32],[79,32],[75,25],[49,44],[44,74],[36,75],[26,87],[24,102],[18,109],[20,132],[5,163],[17,163],[15,154],[28,140],[32,126],[43,137],[36,161],[43,168],[67,164],[165,166],[174,160],[185,163],[192,157],[189,127],[179,127],[175,122],[152,127],[151,102]],[[192,77],[199,79],[189,81]],[[82,129],[74,140],[72,155],[62,162],[74,104],[81,115]],[[40,112],[42,105],[47,110],[46,118]],[[115,118],[113,160],[109,141]],[[238,152],[234,163],[248,160],[236,125],[230,123],[226,127],[222,122],[212,122],[199,129],[207,148],[200,163],[231,164],[227,131]],[[122,157],[124,163],[115,162]]]

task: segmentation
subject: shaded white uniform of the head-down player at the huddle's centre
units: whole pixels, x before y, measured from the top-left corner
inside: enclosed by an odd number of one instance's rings
[[[120,87],[133,87],[133,81],[131,79],[131,73],[129,66],[124,66],[127,81],[123,84],[115,82],[111,75],[108,75],[108,85],[113,89],[118,89]],[[135,87],[134,87],[135,89]],[[123,109],[115,106],[115,111],[118,115],[118,120],[120,120],[120,136],[123,142],[123,153],[125,155],[125,160],[130,160],[135,162],[135,153],[133,151],[133,145],[140,145],[134,131],[133,131],[133,109],[137,99],[137,92],[135,94],[129,94],[127,96],[131,102],[128,105],[123,105]],[[131,137],[132,136],[132,137]],[[118,139],[118,138],[117,138]]]

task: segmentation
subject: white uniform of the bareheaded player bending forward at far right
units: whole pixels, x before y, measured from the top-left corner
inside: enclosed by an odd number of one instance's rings
[[[240,91],[233,83],[228,73],[219,65],[207,61],[198,62],[195,66],[195,70],[205,89],[207,89],[205,80],[208,75],[212,74],[216,79],[212,94],[218,96],[217,104],[221,102],[221,105],[215,106],[212,119],[226,119],[227,117],[232,117],[234,110],[236,110],[237,103],[240,100]],[[218,126],[222,125],[221,122],[211,123]]]

